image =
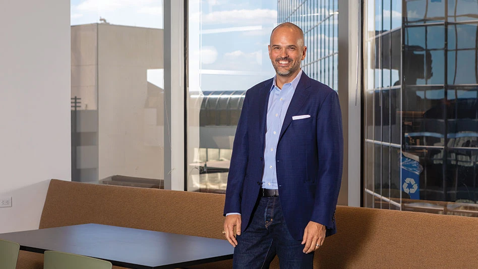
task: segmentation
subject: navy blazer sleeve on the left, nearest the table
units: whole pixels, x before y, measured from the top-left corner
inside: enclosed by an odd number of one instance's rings
[[[241,213],[241,196],[249,154],[248,103],[248,94],[246,92],[241,116],[239,117],[235,131],[234,143],[232,144],[232,156],[229,165],[229,174],[227,176],[224,216],[226,213],[231,212]]]

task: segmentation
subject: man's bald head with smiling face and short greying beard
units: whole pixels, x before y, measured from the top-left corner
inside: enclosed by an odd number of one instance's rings
[[[295,25],[279,25],[271,35],[269,58],[277,76],[294,78],[306,57],[307,47],[304,46],[304,36]]]

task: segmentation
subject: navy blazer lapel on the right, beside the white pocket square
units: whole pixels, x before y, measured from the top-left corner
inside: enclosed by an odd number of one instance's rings
[[[297,112],[301,110],[305,101],[308,99],[310,92],[306,89],[310,86],[310,78],[303,71],[301,80],[295,88],[294,95],[292,96],[292,100],[290,100],[289,108],[285,114],[284,122],[282,123],[282,128],[280,130],[279,141],[282,138],[282,135],[284,135],[285,130],[287,130],[287,127],[289,127],[292,122],[292,116],[295,116]]]

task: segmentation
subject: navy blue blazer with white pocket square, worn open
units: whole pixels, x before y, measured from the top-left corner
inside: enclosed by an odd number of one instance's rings
[[[247,230],[264,171],[266,115],[272,80],[246,92],[232,146],[224,215],[242,214]],[[310,118],[292,120],[292,116]],[[290,234],[302,240],[309,221],[335,233],[342,178],[343,134],[337,93],[305,72],[295,88],[276,150],[279,199]]]

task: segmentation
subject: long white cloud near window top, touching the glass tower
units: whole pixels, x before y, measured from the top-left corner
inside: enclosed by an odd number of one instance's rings
[[[202,16],[203,24],[273,24],[277,11],[270,9],[215,11]]]

